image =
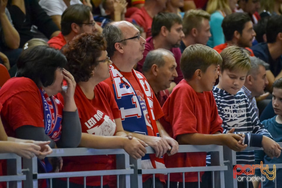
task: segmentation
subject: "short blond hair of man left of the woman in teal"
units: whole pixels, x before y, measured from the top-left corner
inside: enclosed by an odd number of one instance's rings
[[[203,19],[210,20],[211,15],[204,10],[191,9],[187,11],[183,16],[183,33],[189,35],[193,28],[199,29],[202,25]]]

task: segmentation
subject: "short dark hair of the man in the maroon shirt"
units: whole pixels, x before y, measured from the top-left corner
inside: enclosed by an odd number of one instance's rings
[[[157,14],[154,16],[152,22],[152,37],[160,33],[162,26],[165,26],[170,31],[175,23],[182,24],[182,19],[177,14],[171,12],[161,12]]]

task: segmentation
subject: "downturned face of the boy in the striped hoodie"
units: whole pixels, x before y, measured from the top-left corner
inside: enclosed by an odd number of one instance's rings
[[[234,69],[232,71],[225,69],[223,72],[218,69],[219,83],[218,88],[235,95],[244,85],[248,73],[246,69]]]

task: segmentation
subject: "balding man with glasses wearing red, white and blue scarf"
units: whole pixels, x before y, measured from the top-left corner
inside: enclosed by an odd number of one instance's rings
[[[178,143],[164,130],[158,119],[164,115],[144,75],[133,67],[143,58],[145,39],[127,21],[108,24],[103,29],[107,52],[113,64],[105,80],[115,96],[125,131],[144,141],[155,154],[142,157],[142,169],[165,168],[162,156],[178,151]],[[152,187],[151,174],[142,176],[143,187]],[[163,188],[164,175],[155,174],[155,187]]]

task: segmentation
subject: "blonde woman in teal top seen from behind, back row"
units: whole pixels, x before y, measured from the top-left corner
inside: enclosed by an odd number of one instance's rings
[[[211,14],[210,26],[212,36],[209,38],[207,45],[211,48],[225,42],[222,31],[222,21],[226,15],[232,13],[236,8],[237,0],[209,0],[207,12]]]

